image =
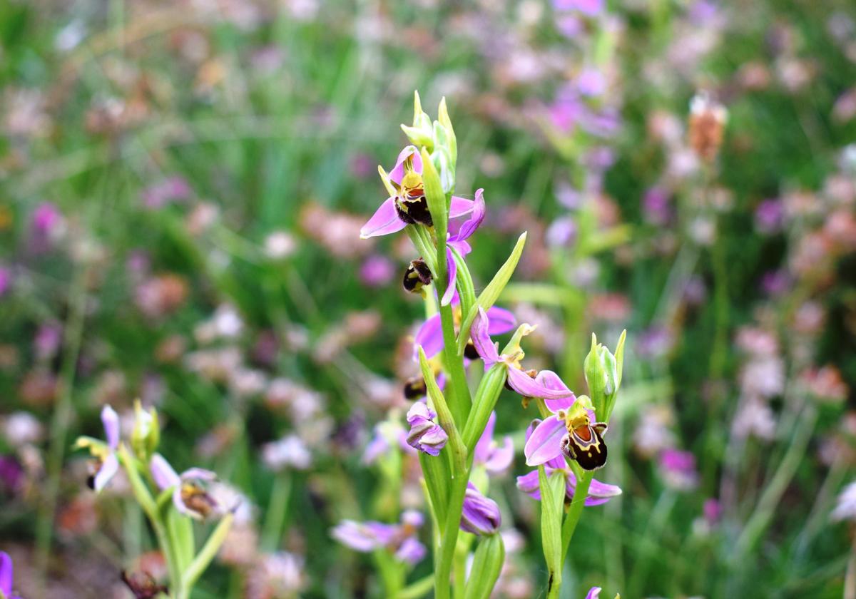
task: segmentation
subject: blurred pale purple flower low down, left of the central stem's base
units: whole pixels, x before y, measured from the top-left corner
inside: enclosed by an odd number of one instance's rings
[[[401,524],[397,525],[342,520],[330,531],[330,537],[362,553],[386,549],[395,555],[396,559],[413,566],[421,561],[426,553],[425,546],[416,538],[416,531],[424,520],[421,513],[413,510],[402,513]]]

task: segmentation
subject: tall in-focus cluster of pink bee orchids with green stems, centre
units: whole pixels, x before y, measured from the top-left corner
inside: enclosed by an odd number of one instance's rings
[[[395,445],[418,454],[435,528],[434,594],[440,599],[453,592],[455,597],[486,598],[505,559],[498,534],[502,511],[488,496],[490,477],[508,470],[514,460],[509,437],[501,444],[493,440],[494,408],[503,388],[520,394],[524,407],[537,402],[543,419],[529,426],[524,448],[526,464],[537,470],[519,477],[518,487],[541,501],[547,596],[557,597],[562,562],[582,507],[621,493],[593,480],[592,471],[607,460],[604,435],[621,384],[624,335],[615,353],[592,337],[585,365],[591,397],[577,397],[555,372],[526,370],[521,342],[534,328],[517,326],[512,312],[495,305],[514,273],[526,233],[476,294],[465,258],[484,221],[484,190],[477,190],[473,199],[455,195],[457,144],[445,99],[432,122],[417,93],[413,125],[401,128],[411,145],[399,153],[389,173],[378,167],[388,198],[360,233],[363,238],[402,230],[407,234],[419,255],[408,265],[403,287],[425,299],[429,317],[414,339],[420,376],[404,388],[405,397],[414,400],[407,412],[409,430],[391,423],[379,426],[383,436],[367,454],[375,457]],[[491,335],[512,331],[500,351]],[[483,374],[473,391],[468,382],[479,372]],[[389,570],[389,556],[401,566],[413,565],[425,554],[415,537],[421,524],[413,513],[405,513],[401,524],[345,520],[332,535],[352,549],[380,555],[378,566]],[[470,555],[473,543],[478,544]],[[469,564],[468,571],[461,564]],[[399,578],[401,572],[399,567]],[[381,573],[388,578],[389,572]],[[387,587],[391,595],[399,590]],[[418,595],[415,587],[401,592]]]

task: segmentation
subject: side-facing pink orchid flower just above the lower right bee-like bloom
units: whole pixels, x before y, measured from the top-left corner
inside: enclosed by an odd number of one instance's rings
[[[528,335],[532,332],[532,327],[528,324],[521,324],[517,333],[514,334],[515,339]],[[476,351],[484,360],[484,367],[497,363],[508,367],[508,386],[514,389],[517,393],[524,397],[541,397],[544,400],[570,400],[572,403],[575,399],[574,392],[568,389],[563,383],[561,387],[548,387],[544,385],[544,377],[555,377],[558,375],[552,371],[541,371],[539,375],[535,371],[523,371],[520,367],[520,360],[525,355],[520,349],[519,343],[516,347],[512,347],[511,353],[499,354],[496,344],[490,339],[490,320],[487,313],[479,306],[479,314],[473,320],[473,345]],[[544,375],[544,377],[542,377]],[[549,378],[552,381],[552,378]],[[561,380],[560,380],[561,383]]]

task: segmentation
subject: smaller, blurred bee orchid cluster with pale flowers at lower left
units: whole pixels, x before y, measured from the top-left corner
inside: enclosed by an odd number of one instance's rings
[[[80,436],[75,442],[76,448],[88,449],[92,456],[88,484],[101,493],[120,469],[124,470],[134,499],[152,525],[169,572],[168,584],[159,584],[149,572],[122,572],[122,580],[134,596],[187,599],[223,545],[237,506],[223,504],[212,492],[211,485],[217,481],[214,472],[190,468],[179,474],[157,453],[160,425],[153,407],[146,411],[139,400],[135,402],[134,429],[124,442],[116,410],[104,406],[101,422],[104,441]],[[199,551],[194,520],[218,521]]]

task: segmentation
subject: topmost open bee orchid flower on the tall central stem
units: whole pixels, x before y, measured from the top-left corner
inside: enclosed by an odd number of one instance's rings
[[[392,187],[389,191],[395,195],[389,196],[363,225],[362,239],[397,233],[416,222],[429,227],[433,224],[422,183],[422,157],[415,146],[408,145],[398,155],[395,168],[389,171],[389,185]],[[469,214],[473,205],[472,199],[452,196],[449,218]]]

